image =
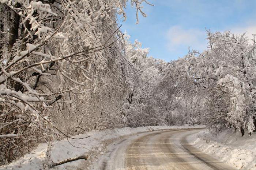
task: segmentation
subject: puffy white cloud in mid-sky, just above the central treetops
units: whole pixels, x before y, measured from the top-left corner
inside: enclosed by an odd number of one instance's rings
[[[167,31],[167,48],[174,52],[177,50],[188,50],[190,47],[193,50],[206,50],[207,40],[206,31],[199,29],[184,29],[181,26],[170,27]]]

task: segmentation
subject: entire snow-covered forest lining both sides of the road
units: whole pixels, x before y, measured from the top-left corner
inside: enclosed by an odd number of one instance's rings
[[[0,0],[0,164],[87,131],[205,124],[255,132],[255,42],[206,30],[165,62],[120,31],[146,0]],[[157,57],[157,56],[155,56]]]

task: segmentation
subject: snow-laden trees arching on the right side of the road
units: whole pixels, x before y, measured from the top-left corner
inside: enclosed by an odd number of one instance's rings
[[[170,62],[162,73],[161,87],[179,89],[180,94],[173,94],[193,103],[193,119],[199,118],[196,120],[216,134],[234,128],[251,135],[256,125],[255,45],[245,34],[208,31],[207,35],[208,49],[202,53],[193,50]],[[179,116],[184,114],[187,116],[184,111]]]

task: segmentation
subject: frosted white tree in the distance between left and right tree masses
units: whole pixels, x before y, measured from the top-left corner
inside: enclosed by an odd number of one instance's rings
[[[123,119],[127,126],[156,126],[163,123],[164,116],[157,111],[154,104],[155,85],[161,79],[160,71],[165,67],[163,60],[148,57],[148,48],[135,40],[129,41],[125,36],[125,57],[137,71],[129,79],[127,102],[121,107]]]

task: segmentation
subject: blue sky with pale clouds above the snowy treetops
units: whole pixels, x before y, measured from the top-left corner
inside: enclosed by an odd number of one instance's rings
[[[127,31],[131,41],[138,39],[150,56],[170,60],[188,53],[188,47],[203,51],[207,48],[206,31],[228,31],[237,34],[247,31],[252,38],[256,33],[255,0],[148,0],[155,6],[144,4],[147,17],[127,5],[127,20],[122,31]]]

